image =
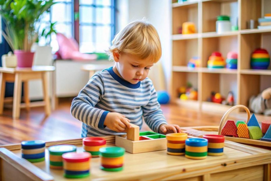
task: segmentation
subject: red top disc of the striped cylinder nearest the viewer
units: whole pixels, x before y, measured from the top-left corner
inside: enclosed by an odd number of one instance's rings
[[[89,161],[91,154],[89,152],[68,152],[62,155],[62,158],[67,162],[85,162]]]

